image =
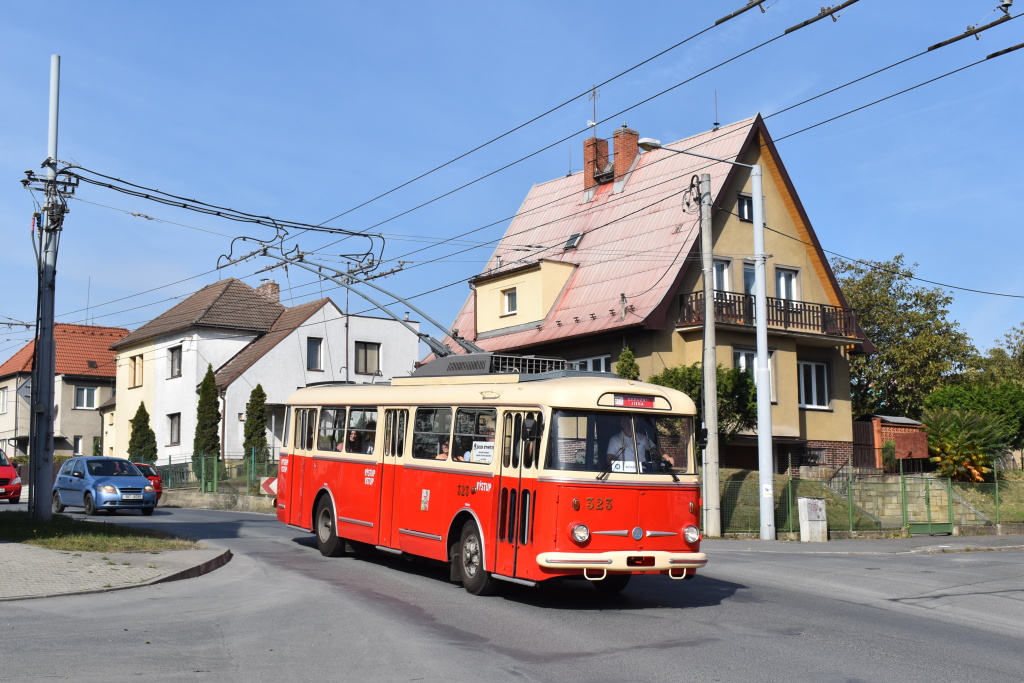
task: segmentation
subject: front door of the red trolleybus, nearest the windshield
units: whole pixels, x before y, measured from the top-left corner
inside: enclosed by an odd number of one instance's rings
[[[532,561],[539,413],[505,413],[502,420],[501,474],[494,573],[515,577],[521,562]],[[525,568],[525,567],[523,567]]]

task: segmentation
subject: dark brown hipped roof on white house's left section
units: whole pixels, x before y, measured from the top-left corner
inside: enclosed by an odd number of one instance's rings
[[[113,346],[115,350],[190,328],[219,328],[266,332],[285,310],[260,296],[241,280],[228,278],[207,285],[161,313]]]

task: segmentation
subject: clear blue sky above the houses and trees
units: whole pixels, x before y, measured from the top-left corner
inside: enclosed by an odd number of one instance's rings
[[[19,180],[46,156],[51,54],[61,55],[60,159],[210,204],[321,223],[702,31],[744,1],[638,1],[627,9],[604,1],[57,0],[45,11],[6,3],[0,322],[35,317],[33,204]],[[722,123],[768,117],[991,22],[1000,15],[995,4],[860,0],[837,22],[792,33],[620,114],[821,7],[819,0],[769,0],[766,12],[751,10],[602,86],[597,117],[609,120],[598,134],[627,123],[668,142],[709,130],[716,93]],[[826,250],[868,260],[903,253],[923,279],[1015,295],[950,290],[951,316],[982,349],[1024,322],[1024,49],[785,136],[1022,41],[1024,19],[1009,22],[767,120]],[[581,168],[593,116],[579,97],[330,225],[382,233],[380,270],[399,261],[403,269],[377,284],[451,323],[468,294],[465,281],[482,268],[530,185]],[[59,322],[134,329],[221,278],[257,285],[268,276],[256,274],[266,259],[215,270],[232,238],[265,238],[268,229],[86,185],[71,208],[58,258]],[[336,240],[307,233],[292,244],[314,251]],[[345,305],[343,292],[310,273],[269,276],[285,303],[326,295]],[[368,309],[352,297],[352,312]],[[0,356],[29,336],[0,326]]]

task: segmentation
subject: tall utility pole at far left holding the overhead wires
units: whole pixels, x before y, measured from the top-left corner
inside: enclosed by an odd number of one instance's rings
[[[53,398],[56,349],[53,342],[53,300],[56,286],[57,236],[63,205],[57,195],[57,114],[60,99],[60,55],[50,55],[50,110],[46,141],[46,206],[40,225],[39,292],[36,318],[36,357],[32,379],[32,488],[29,516],[51,518],[53,486]]]

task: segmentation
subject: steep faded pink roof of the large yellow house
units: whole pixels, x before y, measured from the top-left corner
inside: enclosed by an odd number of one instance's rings
[[[759,130],[763,131],[760,118],[748,119],[666,146],[732,160]],[[578,267],[544,321],[508,334],[490,333],[476,338],[476,343],[486,350],[502,350],[636,326],[664,326],[668,297],[678,289],[691,252],[698,250],[699,215],[685,209],[683,191],[693,175],[709,173],[712,197],[717,198],[734,168],[654,151],[639,157],[623,191],[613,194],[616,183],[598,185],[589,203],[582,202],[580,173],[535,185],[477,280],[541,259]],[[579,248],[564,250],[575,233],[583,233]],[[529,254],[527,259],[523,254]],[[469,297],[452,327],[472,339],[475,321]]]

